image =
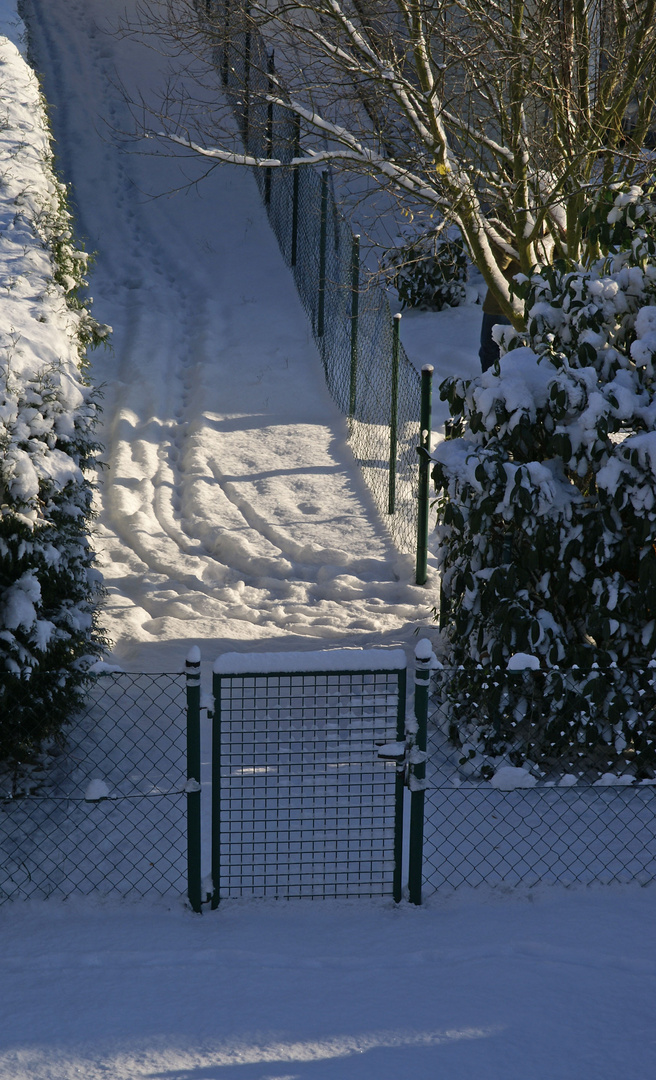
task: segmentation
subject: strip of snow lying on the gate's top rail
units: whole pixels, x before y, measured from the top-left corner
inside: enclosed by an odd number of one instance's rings
[[[318,652],[224,652],[217,675],[303,674],[303,672],[404,671],[403,649],[322,649]]]

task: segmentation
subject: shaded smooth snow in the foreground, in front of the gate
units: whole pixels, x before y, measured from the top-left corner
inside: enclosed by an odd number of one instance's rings
[[[0,909],[3,1080],[648,1080],[653,889]]]

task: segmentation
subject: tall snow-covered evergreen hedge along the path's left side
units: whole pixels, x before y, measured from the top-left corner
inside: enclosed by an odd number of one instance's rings
[[[55,732],[102,649],[89,545],[97,404],[84,351],[108,333],[78,297],[43,100],[0,38],[0,758]]]

